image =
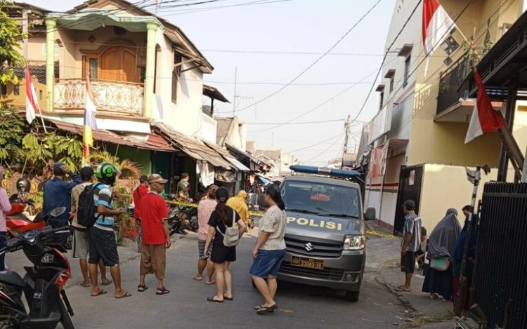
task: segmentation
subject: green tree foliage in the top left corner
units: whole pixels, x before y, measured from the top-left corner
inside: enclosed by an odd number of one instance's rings
[[[24,39],[16,20],[12,20],[6,13],[9,6],[6,0],[0,0],[0,82],[7,83],[15,79],[13,67],[22,64],[20,55],[20,44],[18,41]],[[7,65],[4,65],[7,63]]]

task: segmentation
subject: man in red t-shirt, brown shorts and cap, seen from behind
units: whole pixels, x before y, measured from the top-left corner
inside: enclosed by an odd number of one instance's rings
[[[143,244],[141,245],[141,267],[139,269],[139,286],[137,291],[148,289],[145,285],[146,274],[155,274],[157,278],[157,295],[170,293],[164,288],[164,269],[167,265],[167,248],[170,247],[170,235],[167,203],[159,195],[167,180],[159,174],[148,176],[150,192],[141,199],[141,226],[143,227]]]

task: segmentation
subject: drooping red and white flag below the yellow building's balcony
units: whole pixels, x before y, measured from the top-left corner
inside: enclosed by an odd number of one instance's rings
[[[484,133],[490,133],[505,125],[503,116],[493,108],[477,70],[474,70],[474,81],[478,86],[478,98],[470,118],[467,137],[464,139],[465,144]]]

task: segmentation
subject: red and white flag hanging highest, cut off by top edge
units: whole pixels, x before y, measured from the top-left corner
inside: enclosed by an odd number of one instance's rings
[[[424,63],[424,75],[427,75],[429,55],[434,53],[441,43],[450,35],[450,31],[455,27],[455,22],[448,13],[438,3],[437,0],[423,1],[423,46],[424,56],[427,58]]]

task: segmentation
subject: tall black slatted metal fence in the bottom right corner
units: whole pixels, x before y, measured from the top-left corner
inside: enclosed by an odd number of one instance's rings
[[[485,184],[471,303],[489,328],[527,328],[526,247],[527,183]]]

